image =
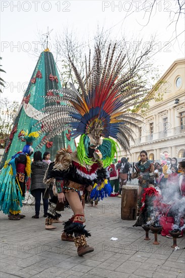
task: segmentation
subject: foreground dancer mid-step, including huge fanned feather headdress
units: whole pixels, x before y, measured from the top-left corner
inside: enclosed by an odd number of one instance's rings
[[[105,168],[112,163],[118,145],[109,137],[115,138],[124,151],[129,151],[129,139],[133,140],[131,127],[137,128],[141,121],[137,120],[137,114],[128,112],[128,108],[142,103],[138,96],[146,94],[141,82],[138,80],[137,83],[135,65],[133,70],[120,75],[126,56],[122,52],[118,54],[116,43],[112,50],[111,45],[104,56],[102,44],[97,42],[92,65],[90,54],[88,65],[85,58],[85,80],[69,57],[79,90],[71,83],[70,89],[50,90],[45,98],[56,105],[43,108],[43,118],[37,122],[43,135],[47,133],[38,148],[67,129],[72,130],[70,136],[73,138],[80,135],[74,153],[65,149],[58,151],[47,176],[47,183],[53,187],[59,203],[64,204],[67,200],[73,210],[73,217],[64,224],[62,239],[68,240],[74,235],[71,240],[74,240],[79,256],[94,251],[86,242],[90,234],[83,225],[85,217],[79,197],[83,196],[84,190],[89,190],[90,198],[100,200],[111,192]],[[96,149],[101,152],[101,159],[96,155]]]

